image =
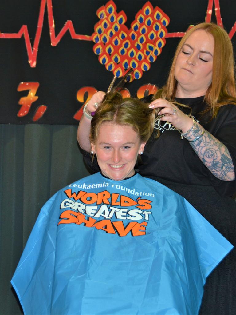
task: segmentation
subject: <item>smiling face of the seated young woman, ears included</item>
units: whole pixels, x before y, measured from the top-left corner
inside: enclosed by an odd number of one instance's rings
[[[130,126],[114,123],[103,123],[96,145],[91,144],[102,174],[112,180],[123,180],[134,175],[137,156],[144,146]]]

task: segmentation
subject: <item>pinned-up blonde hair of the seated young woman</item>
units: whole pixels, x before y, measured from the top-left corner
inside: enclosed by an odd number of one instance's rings
[[[99,129],[106,122],[130,126],[137,132],[140,143],[150,138],[155,120],[155,110],[139,99],[124,98],[120,93],[108,93],[98,107],[90,128],[90,142],[96,144]]]

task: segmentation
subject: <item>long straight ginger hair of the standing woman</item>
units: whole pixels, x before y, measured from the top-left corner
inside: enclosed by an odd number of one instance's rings
[[[200,23],[186,32],[177,46],[166,85],[157,91],[154,99],[173,100],[175,98],[177,80],[174,77],[174,70],[177,56],[188,37],[196,30],[204,30],[214,38],[212,83],[206,91],[205,101],[209,105],[206,111],[211,110],[212,117],[216,117],[221,106],[229,103],[236,105],[236,89],[233,45],[227,32],[214,23]]]

